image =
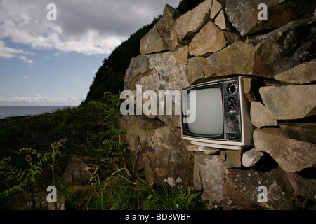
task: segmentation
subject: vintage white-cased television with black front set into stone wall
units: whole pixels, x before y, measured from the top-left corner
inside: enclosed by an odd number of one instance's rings
[[[232,150],[253,145],[242,76],[184,88],[181,104],[182,137],[191,144]]]

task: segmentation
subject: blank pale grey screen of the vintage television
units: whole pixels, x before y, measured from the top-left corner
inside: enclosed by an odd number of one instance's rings
[[[203,135],[223,134],[222,91],[219,87],[197,90],[195,99],[191,99],[189,92],[187,99],[190,109],[190,100],[195,100],[193,105],[196,105],[195,121],[187,123],[189,132]]]

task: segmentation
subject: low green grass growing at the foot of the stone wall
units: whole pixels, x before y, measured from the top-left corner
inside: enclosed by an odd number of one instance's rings
[[[136,183],[111,181],[101,200],[97,188],[70,187],[66,199],[70,209],[82,210],[200,210],[205,209],[199,193],[191,188],[169,186],[150,187],[144,179]],[[74,193],[75,192],[75,193]],[[104,203],[104,204],[103,204]]]

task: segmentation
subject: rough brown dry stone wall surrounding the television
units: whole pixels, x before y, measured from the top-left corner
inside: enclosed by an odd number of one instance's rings
[[[261,3],[268,20],[258,20]],[[141,85],[158,96],[244,76],[254,147],[192,145],[174,113],[124,116],[131,162],[148,183],[194,187],[209,209],[315,209],[315,9],[311,0],[205,0],[181,15],[166,5],[140,41],[125,89],[136,94]]]

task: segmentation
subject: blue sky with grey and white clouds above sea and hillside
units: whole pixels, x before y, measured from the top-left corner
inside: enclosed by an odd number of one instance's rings
[[[78,106],[112,50],[180,0],[0,0],[0,106]]]

